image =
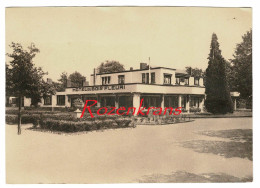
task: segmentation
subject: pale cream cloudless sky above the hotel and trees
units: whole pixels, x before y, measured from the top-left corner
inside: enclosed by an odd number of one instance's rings
[[[116,60],[126,69],[151,66],[207,68],[212,33],[225,59],[252,28],[250,8],[33,7],[6,8],[6,53],[11,42],[40,49],[37,67],[54,81]],[[7,62],[9,59],[7,58]]]

